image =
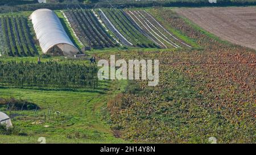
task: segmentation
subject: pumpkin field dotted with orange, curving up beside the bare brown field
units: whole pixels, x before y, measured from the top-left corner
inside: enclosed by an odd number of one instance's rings
[[[159,59],[160,82],[131,82],[128,93],[110,100],[111,127],[134,141],[208,143],[214,136],[218,143],[254,143],[255,51],[221,41],[172,9],[150,12],[203,49],[118,52],[127,60]]]

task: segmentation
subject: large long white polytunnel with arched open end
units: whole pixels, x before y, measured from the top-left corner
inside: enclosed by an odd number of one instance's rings
[[[38,9],[30,15],[30,19],[43,53],[60,53],[65,56],[79,53],[54,11]]]

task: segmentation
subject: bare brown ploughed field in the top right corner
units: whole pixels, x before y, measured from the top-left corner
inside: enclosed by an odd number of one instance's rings
[[[176,11],[221,39],[256,49],[256,7],[205,7]]]

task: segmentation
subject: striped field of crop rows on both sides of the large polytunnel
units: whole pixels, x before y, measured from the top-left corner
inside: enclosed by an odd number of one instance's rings
[[[142,10],[67,9],[55,12],[73,44],[81,52],[94,49],[159,49],[197,46],[179,32],[174,34],[167,30],[162,23]],[[133,16],[135,12],[141,12],[141,16],[135,19]],[[31,13],[27,11],[0,16],[1,56],[40,56],[42,49],[29,17]]]

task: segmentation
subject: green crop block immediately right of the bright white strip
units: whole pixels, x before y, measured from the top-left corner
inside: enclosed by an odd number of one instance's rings
[[[129,17],[123,14],[122,10],[119,9],[102,9],[109,20],[114,24],[120,33],[127,40],[129,40],[134,46],[141,48],[158,47],[143,35],[137,28],[131,23]]]

